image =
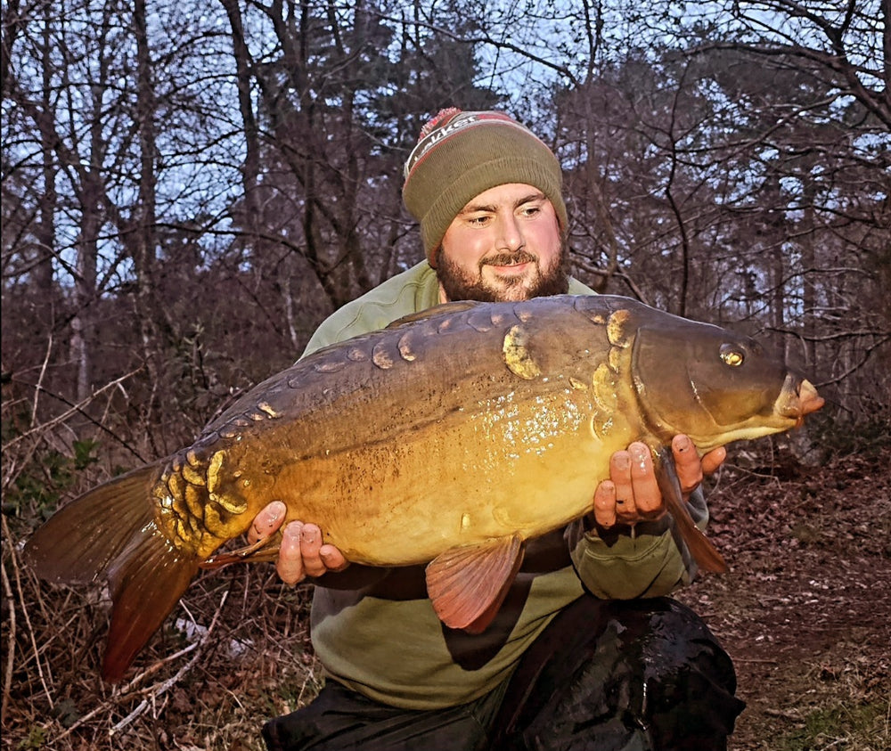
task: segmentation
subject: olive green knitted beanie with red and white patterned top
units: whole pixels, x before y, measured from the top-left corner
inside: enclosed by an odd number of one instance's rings
[[[405,207],[421,223],[430,265],[461,209],[479,193],[508,183],[543,192],[566,231],[563,173],[544,142],[502,112],[439,110],[405,162],[402,190]]]

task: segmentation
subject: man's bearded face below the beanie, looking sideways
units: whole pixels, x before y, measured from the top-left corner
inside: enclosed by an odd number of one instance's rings
[[[566,293],[566,253],[551,201],[519,183],[480,193],[449,224],[437,277],[443,302]]]

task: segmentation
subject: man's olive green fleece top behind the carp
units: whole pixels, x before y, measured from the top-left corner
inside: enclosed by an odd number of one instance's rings
[[[594,294],[572,280],[571,294]],[[384,328],[439,303],[426,261],[341,307],[307,345],[316,349]],[[591,489],[593,499],[594,488]],[[702,495],[691,514],[705,526]],[[312,640],[328,678],[391,706],[435,709],[494,690],[553,616],[585,590],[603,599],[657,597],[691,578],[692,564],[666,519],[641,524],[634,538],[609,541],[584,520],[527,543],[523,567],[486,632],[454,631],[426,596],[423,567],[363,569],[317,580]],[[347,586],[350,588],[341,588]],[[358,581],[358,588],[356,588]]]

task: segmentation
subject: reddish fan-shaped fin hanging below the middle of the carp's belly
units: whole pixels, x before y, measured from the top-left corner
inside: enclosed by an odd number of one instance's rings
[[[523,562],[519,535],[451,548],[427,566],[427,593],[451,628],[482,633],[498,613]]]

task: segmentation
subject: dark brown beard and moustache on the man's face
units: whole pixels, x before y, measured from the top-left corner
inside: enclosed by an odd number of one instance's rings
[[[548,295],[565,295],[569,290],[568,253],[565,245],[551,265],[542,266],[539,258],[526,250],[501,252],[483,257],[476,273],[454,263],[439,249],[437,278],[449,300],[478,300],[495,303],[505,300],[519,301]],[[486,265],[535,265],[532,277],[516,276],[499,278],[495,283],[483,279]]]

